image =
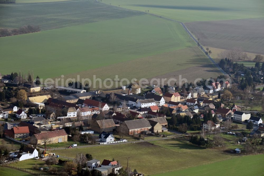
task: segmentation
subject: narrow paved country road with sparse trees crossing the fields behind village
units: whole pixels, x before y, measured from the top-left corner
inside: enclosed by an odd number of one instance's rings
[[[95,0],[95,1],[99,2],[98,0]],[[99,3],[103,3],[103,2],[99,2]],[[103,3],[103,4],[105,4],[105,3]],[[106,4],[106,5],[108,5],[108,6],[112,6],[112,5],[110,5],[110,4]],[[167,18],[167,17],[162,17],[162,16],[159,16],[159,15],[155,15],[155,14],[153,14],[153,13],[147,13],[147,12],[138,11],[138,10],[131,10],[131,9],[128,9],[128,8],[117,7],[117,6],[112,6],[112,7],[122,8],[122,9],[125,9],[125,10],[134,11],[134,12],[145,13],[145,14],[153,15],[153,16],[156,16],[156,17],[159,17],[159,18],[163,18],[163,19],[166,19],[166,20],[175,21],[175,22],[177,22],[177,23],[180,23],[180,24],[182,25],[182,27],[184,28],[184,30],[185,30],[185,31],[191,36],[191,38],[195,41],[195,43],[198,44],[198,41],[196,40],[196,38],[191,34],[191,32],[188,30],[188,28],[185,26],[185,24],[184,24],[183,22],[180,22],[180,21],[177,21],[177,20],[173,20],[173,19],[170,19],[170,18]],[[204,53],[206,52],[205,49],[204,49],[204,47],[202,47],[201,45],[200,45],[200,48],[201,48],[201,50],[202,50]],[[216,63],[216,62],[213,60],[213,58],[211,58],[210,55],[206,54],[206,56],[210,59],[211,62],[213,62],[213,64],[216,66],[216,68],[219,69],[219,71],[220,71],[221,73],[223,73],[224,75],[227,75],[227,76],[229,77],[229,75],[228,75],[226,72],[224,72],[224,71],[219,67],[218,63]]]

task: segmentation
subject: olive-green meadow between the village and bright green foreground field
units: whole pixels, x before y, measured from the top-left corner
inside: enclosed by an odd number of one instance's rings
[[[132,141],[133,142],[133,141]],[[103,152],[102,152],[103,151]],[[161,173],[175,169],[182,169],[200,164],[216,162],[236,157],[227,154],[219,149],[202,149],[191,145],[189,142],[182,142],[175,139],[158,140],[142,143],[119,144],[111,146],[95,146],[78,149],[56,150],[56,154],[75,157],[77,153],[89,153],[95,159],[119,160],[122,165],[127,164],[131,169],[137,169],[144,174]],[[210,155],[208,155],[210,153]],[[148,164],[142,164],[144,161]],[[165,165],[160,165],[166,161]]]

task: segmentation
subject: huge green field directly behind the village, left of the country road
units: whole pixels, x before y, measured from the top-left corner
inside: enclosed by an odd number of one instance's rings
[[[12,68],[3,67],[2,74],[19,71],[21,66],[21,71],[33,70],[34,75],[41,78],[60,75],[73,77],[77,74],[86,78],[95,71],[95,75],[101,78],[114,77],[120,73],[124,77],[137,76],[140,79],[142,76],[167,76],[166,74],[176,71],[179,72],[174,75],[179,75],[183,69],[186,69],[183,73],[191,74],[188,69],[190,67],[200,67],[192,70],[203,76],[201,78],[204,78],[204,71],[210,72],[208,77],[219,74],[209,59],[196,48],[180,24],[150,15],[3,37],[0,38],[0,47],[3,66],[10,62],[20,62]],[[150,60],[148,66],[139,64],[147,63],[144,60]],[[153,62],[155,60],[157,62]],[[167,68],[157,72],[155,68],[160,68],[161,61],[167,64]],[[171,64],[172,62],[175,64]],[[117,63],[121,64],[118,65],[118,71]],[[128,66],[122,67],[126,64]],[[145,72],[135,72],[134,64],[138,69],[145,69]],[[108,66],[113,67],[107,68]],[[131,72],[128,72],[130,69]],[[194,78],[194,72],[189,77]]]

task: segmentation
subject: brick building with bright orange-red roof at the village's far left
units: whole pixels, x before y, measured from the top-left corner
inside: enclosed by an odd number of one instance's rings
[[[29,127],[13,127],[4,130],[4,134],[12,138],[27,138],[29,137]]]

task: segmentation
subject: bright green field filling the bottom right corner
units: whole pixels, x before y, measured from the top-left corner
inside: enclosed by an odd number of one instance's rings
[[[263,175],[263,167],[261,167],[263,160],[264,155],[241,156],[175,172],[156,174],[155,176],[212,175],[212,172],[213,175]],[[245,165],[250,169],[246,169]]]

